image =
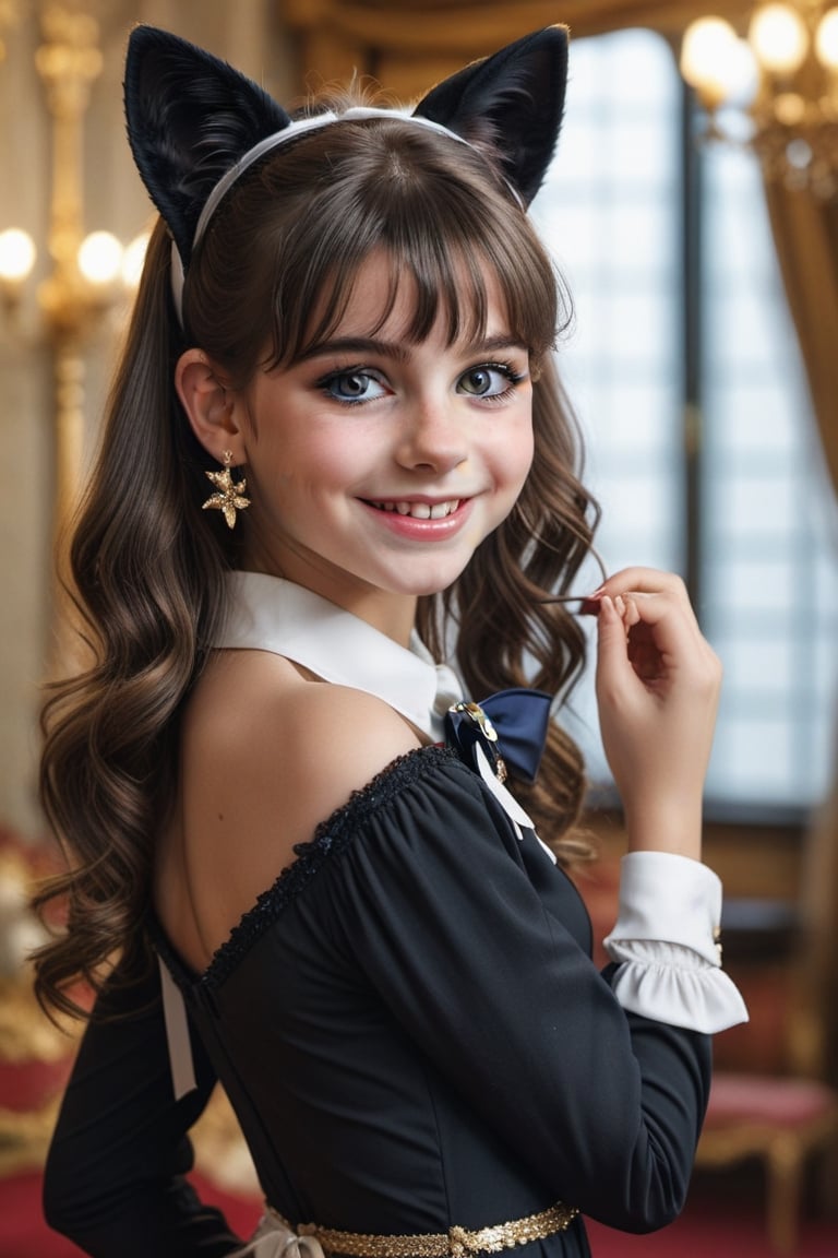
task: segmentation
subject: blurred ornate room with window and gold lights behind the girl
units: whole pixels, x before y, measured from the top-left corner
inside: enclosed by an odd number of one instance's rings
[[[820,0],[0,0],[0,1258],[74,1252],[38,1218],[74,1039],[34,1006],[25,897],[55,858],[36,801],[41,684],[73,667],[53,555],[151,223],[122,121],[137,21],[284,103],[353,74],[408,102],[570,25],[565,130],[533,208],[573,303],[559,366],[604,565],[680,571],[725,665],[706,859],[751,1009],[717,1042],[692,1230],[598,1229],[594,1253],[835,1258],[838,9]],[[602,937],[623,837],[589,676],[564,718],[590,766],[602,859],[580,889]],[[249,1219],[222,1098],[196,1146],[210,1191]]]

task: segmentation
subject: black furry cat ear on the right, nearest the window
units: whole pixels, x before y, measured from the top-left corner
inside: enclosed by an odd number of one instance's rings
[[[568,29],[547,26],[437,83],[413,113],[501,159],[525,205],[553,157],[568,78]]]

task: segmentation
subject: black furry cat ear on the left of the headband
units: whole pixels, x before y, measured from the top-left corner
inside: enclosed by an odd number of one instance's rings
[[[188,265],[211,189],[290,118],[226,62],[155,26],[137,26],[128,40],[124,103],[139,175]]]

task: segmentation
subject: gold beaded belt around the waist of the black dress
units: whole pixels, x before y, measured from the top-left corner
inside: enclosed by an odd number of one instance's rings
[[[548,1210],[498,1223],[491,1228],[480,1228],[477,1232],[452,1227],[447,1232],[389,1237],[338,1232],[335,1228],[319,1228],[315,1223],[302,1223],[297,1228],[297,1237],[300,1242],[304,1238],[318,1240],[327,1253],[334,1250],[348,1258],[469,1258],[471,1254],[496,1254],[530,1240],[545,1240],[557,1232],[564,1232],[578,1213],[574,1206],[558,1201]],[[271,1209],[270,1215],[283,1228],[293,1232],[288,1220],[276,1210]]]

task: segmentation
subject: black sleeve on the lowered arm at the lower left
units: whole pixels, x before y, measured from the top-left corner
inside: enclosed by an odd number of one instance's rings
[[[187,1136],[215,1073],[193,1037],[197,1089],[176,1102],[157,966],[112,979],[88,1024],[53,1136],[44,1214],[93,1258],[221,1258],[241,1244],[185,1179]]]

